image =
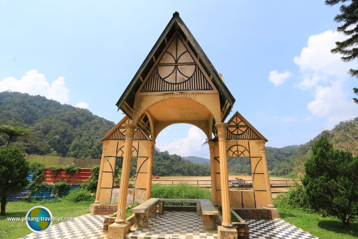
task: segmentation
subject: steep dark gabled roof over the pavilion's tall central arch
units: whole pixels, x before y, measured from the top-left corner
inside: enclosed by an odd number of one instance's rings
[[[137,73],[135,74],[135,76],[127,86],[126,90],[119,98],[116,104],[118,110],[121,109],[127,116],[129,116],[129,118],[132,118],[131,117],[132,112],[126,110],[128,109],[127,107],[125,107],[126,109],[122,107],[124,102],[126,102],[131,108],[133,108],[135,94],[142,83],[140,77],[142,79],[146,77],[151,67],[155,63],[154,59],[158,59],[160,53],[163,51],[164,47],[166,46],[166,42],[165,42],[166,39],[169,40],[177,29],[184,37],[187,38],[189,47],[194,52],[195,56],[199,57],[199,62],[200,64],[202,64],[208,76],[212,76],[212,81],[216,86],[217,90],[219,91],[221,109],[224,109],[224,117],[222,119],[222,121],[224,121],[228,116],[228,114],[230,113],[232,106],[235,102],[235,99],[230,93],[230,91],[227,89],[226,85],[221,80],[220,76],[218,75],[218,72],[215,70],[214,66],[209,61],[208,57],[205,55],[203,49],[199,46],[198,42],[193,37],[192,33],[190,33],[189,29],[184,24],[183,20],[179,17],[178,12],[175,12],[173,14],[173,18],[171,18],[168,25],[165,27],[163,33],[156,41],[154,47],[151,49],[148,56],[145,58],[144,62],[142,63],[142,65],[139,67]]]

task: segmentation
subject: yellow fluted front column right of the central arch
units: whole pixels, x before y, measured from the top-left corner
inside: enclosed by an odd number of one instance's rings
[[[226,128],[227,123],[216,123],[219,138],[219,156],[220,156],[220,181],[221,181],[221,202],[223,209],[222,226],[231,228],[231,208],[229,195],[229,174],[227,168],[227,152],[226,152]]]

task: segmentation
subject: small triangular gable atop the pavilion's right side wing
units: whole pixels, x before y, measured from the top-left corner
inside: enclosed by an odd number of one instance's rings
[[[236,113],[229,119],[226,134],[228,140],[231,139],[261,139],[268,141],[263,135],[258,132],[248,121],[236,111]]]

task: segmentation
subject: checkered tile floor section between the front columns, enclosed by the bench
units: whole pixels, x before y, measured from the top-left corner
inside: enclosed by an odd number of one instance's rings
[[[148,222],[148,228],[131,228],[126,238],[217,239],[217,231],[203,231],[203,219],[194,212],[165,212]]]

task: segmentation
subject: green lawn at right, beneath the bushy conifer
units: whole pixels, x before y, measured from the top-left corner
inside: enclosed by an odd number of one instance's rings
[[[352,231],[347,231],[343,223],[333,217],[323,218],[318,214],[308,214],[301,211],[280,208],[279,215],[281,219],[320,239],[358,238],[358,223],[351,223]]]

